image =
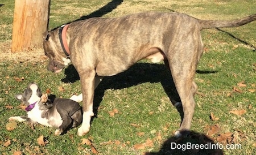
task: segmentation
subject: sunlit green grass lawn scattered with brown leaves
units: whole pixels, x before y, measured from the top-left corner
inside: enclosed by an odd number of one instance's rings
[[[142,11],[183,12],[200,19],[237,19],[256,13],[255,1],[52,1],[49,29],[79,18],[91,16],[114,17]],[[93,154],[82,139],[90,139],[99,154],[142,154],[163,150],[173,154],[192,154],[199,150],[171,150],[170,143],[205,142],[209,126],[218,125],[221,130],[210,137],[217,143],[218,135],[231,132],[228,141],[241,144],[242,149],[223,149],[225,154],[255,154],[255,90],[256,46],[255,21],[238,28],[221,31],[209,29],[201,32],[205,52],[195,81],[199,90],[195,96],[196,109],[191,130],[194,133],[181,140],[174,139],[180,125],[180,114],[172,106],[169,97],[175,97],[170,72],[163,63],[148,64],[141,61],[122,74],[105,78],[96,89],[94,97],[97,117],[92,121],[89,134],[77,136],[77,128],[67,134],[54,136],[55,128],[36,125],[34,130],[27,123],[18,123],[13,131],[6,130],[8,118],[26,115],[15,100],[16,93],[23,92],[27,84],[35,81],[43,92],[47,89],[57,97],[69,98],[81,93],[80,81],[72,66],[60,74],[47,71],[47,60],[42,59],[42,49],[35,50],[38,57],[10,54],[11,28],[14,1],[0,2],[0,154]],[[118,4],[118,5],[116,5]],[[104,7],[107,6],[107,7]],[[230,33],[230,35],[229,35]],[[232,36],[233,35],[233,36]],[[41,54],[40,54],[41,53]],[[16,57],[16,59],[15,59]],[[25,58],[26,57],[26,58]],[[17,80],[22,78],[23,80]],[[237,84],[244,81],[246,87]],[[63,87],[64,90],[60,90]],[[235,92],[234,87],[241,89]],[[168,94],[168,95],[167,95]],[[7,108],[9,105],[13,109]],[[118,113],[110,116],[114,109]],[[231,114],[232,110],[245,109],[243,115]],[[219,120],[211,120],[213,113]],[[142,133],[141,136],[138,134]],[[48,143],[38,144],[43,135]],[[152,145],[137,149],[135,144]],[[167,140],[167,141],[166,141]],[[7,145],[7,142],[10,144]],[[164,142],[166,141],[166,142]],[[197,154],[216,150],[200,150]]]

